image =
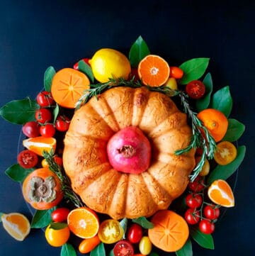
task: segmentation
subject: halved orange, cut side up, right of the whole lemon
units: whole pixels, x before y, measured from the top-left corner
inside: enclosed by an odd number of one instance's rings
[[[143,84],[160,87],[169,79],[170,68],[158,55],[147,55],[138,65],[138,74]]]

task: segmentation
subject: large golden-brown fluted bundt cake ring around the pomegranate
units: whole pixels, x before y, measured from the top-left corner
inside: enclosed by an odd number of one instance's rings
[[[108,141],[127,127],[149,140],[149,167],[138,174],[113,169]],[[86,206],[112,218],[152,216],[180,196],[195,166],[186,114],[168,96],[146,87],[113,87],[81,106],[64,138],[64,170]]]

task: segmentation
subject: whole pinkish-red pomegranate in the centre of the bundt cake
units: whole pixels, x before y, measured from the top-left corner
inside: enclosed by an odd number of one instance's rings
[[[142,130],[128,126],[115,133],[107,145],[108,159],[120,172],[140,174],[149,167],[151,145]]]

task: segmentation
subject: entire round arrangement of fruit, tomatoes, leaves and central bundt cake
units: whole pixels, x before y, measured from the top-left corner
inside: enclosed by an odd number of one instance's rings
[[[6,174],[33,209],[32,221],[1,213],[7,232],[23,240],[44,228],[62,256],[213,249],[245,146],[244,124],[229,118],[229,87],[213,91],[208,64],[171,66],[140,36],[128,57],[103,48],[72,68],[48,67],[35,100],[0,109],[22,125]]]

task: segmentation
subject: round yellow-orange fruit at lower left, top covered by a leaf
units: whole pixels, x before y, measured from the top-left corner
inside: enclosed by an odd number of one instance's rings
[[[70,236],[70,230],[68,226],[60,229],[51,228],[51,226],[52,225],[50,224],[45,230],[45,238],[47,243],[54,247],[60,247],[67,243]]]

